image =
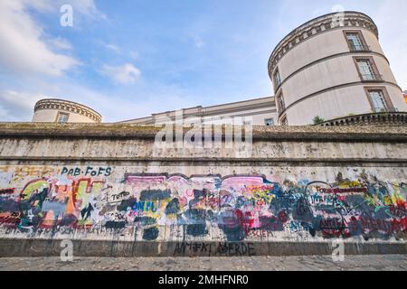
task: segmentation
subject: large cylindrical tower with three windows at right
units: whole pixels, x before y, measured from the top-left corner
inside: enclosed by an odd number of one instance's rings
[[[407,111],[365,14],[327,14],[299,26],[271,53],[269,75],[280,125]]]

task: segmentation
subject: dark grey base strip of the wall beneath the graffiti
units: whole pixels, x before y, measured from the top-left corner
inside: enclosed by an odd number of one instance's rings
[[[74,256],[327,256],[330,242],[114,242],[73,240]],[[62,240],[0,239],[0,257],[61,256]],[[345,255],[407,254],[401,242],[346,242]]]

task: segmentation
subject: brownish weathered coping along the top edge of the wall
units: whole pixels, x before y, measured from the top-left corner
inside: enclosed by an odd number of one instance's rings
[[[173,126],[175,127],[175,126]],[[181,127],[184,133],[190,126]],[[219,126],[217,126],[219,127]],[[222,126],[222,135],[224,135]],[[0,123],[0,138],[154,139],[161,130],[135,124]],[[245,135],[244,129],[241,135]],[[203,134],[204,137],[204,134]],[[407,142],[407,126],[253,126],[253,140]]]

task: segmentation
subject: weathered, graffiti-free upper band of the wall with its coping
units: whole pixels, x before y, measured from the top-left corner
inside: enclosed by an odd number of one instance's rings
[[[236,129],[240,131],[241,127]],[[154,145],[158,131],[159,128],[154,126],[135,125],[0,124],[0,155],[4,161],[347,162],[383,165],[405,163],[407,155],[406,126],[255,126],[252,144],[233,142],[231,148],[225,148],[225,144],[222,147],[213,144],[205,149],[172,147],[165,150]],[[210,134],[214,132],[215,128]],[[224,141],[224,127],[222,132]],[[241,135],[245,135],[244,130]],[[207,139],[211,140],[212,137]]]

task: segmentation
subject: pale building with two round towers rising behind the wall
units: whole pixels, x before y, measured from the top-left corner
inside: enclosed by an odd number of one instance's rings
[[[189,107],[122,121],[253,126],[407,125],[407,93],[398,86],[367,15],[344,12],[319,16],[289,33],[272,51],[269,76],[275,97],[212,107]],[[33,122],[100,122],[80,104],[43,99]]]

